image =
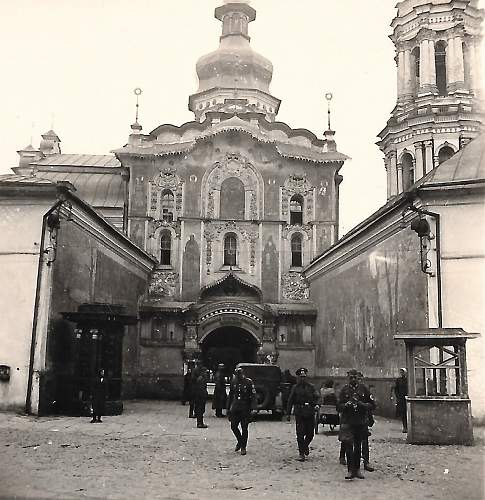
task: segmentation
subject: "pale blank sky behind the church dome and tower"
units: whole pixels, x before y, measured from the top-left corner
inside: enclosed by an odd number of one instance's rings
[[[128,140],[142,89],[143,132],[193,119],[197,59],[215,50],[216,0],[0,0],[0,174],[54,128],[63,153],[109,154]],[[332,92],[340,234],[386,202],[375,145],[396,100],[395,0],[253,0],[254,50],[273,63],[277,119],[323,137]]]

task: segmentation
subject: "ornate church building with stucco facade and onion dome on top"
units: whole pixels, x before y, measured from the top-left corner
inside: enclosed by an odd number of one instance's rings
[[[276,121],[272,65],[249,43],[255,15],[245,2],[215,10],[222,35],[197,62],[194,121],[149,134],[135,123],[115,151],[129,172],[128,235],[159,261],[140,305],[149,393],[182,356],[212,368],[314,365],[316,310],[301,271],[337,239],[347,157],[333,131],[319,139]]]

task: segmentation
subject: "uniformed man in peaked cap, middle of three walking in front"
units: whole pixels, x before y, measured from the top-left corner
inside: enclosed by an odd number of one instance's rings
[[[310,443],[315,434],[315,407],[318,401],[315,387],[306,381],[307,368],[296,371],[297,382],[291,389],[288,397],[287,420],[291,419],[291,409],[295,408],[296,441],[300,462],[305,461],[305,456],[310,454]]]

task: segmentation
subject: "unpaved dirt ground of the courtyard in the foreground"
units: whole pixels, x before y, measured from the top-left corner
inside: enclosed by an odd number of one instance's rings
[[[413,446],[400,425],[377,419],[376,471],[345,481],[335,435],[315,436],[295,460],[294,422],[250,425],[248,454],[234,452],[226,419],[209,410],[196,429],[187,407],[127,402],[102,424],[85,418],[0,413],[1,498],[482,500],[485,429],[475,446]]]

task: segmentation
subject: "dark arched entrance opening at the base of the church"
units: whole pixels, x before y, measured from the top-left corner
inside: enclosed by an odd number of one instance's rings
[[[204,366],[215,370],[224,363],[226,370],[232,372],[238,363],[255,363],[258,342],[244,328],[223,326],[209,333],[201,342]]]

